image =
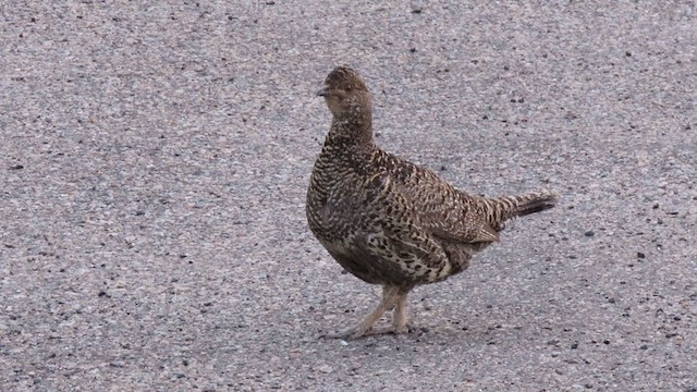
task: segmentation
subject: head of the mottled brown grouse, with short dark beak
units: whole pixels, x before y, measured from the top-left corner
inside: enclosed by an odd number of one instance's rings
[[[338,66],[327,75],[325,87],[317,91],[325,97],[337,119],[370,117],[370,91],[358,73],[348,66]]]

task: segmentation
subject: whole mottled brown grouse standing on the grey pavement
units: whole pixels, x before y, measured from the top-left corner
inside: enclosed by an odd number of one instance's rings
[[[506,220],[554,206],[552,193],[484,198],[378,148],[370,93],[350,68],[334,69],[318,93],[333,115],[307,192],[309,228],[339,264],[383,287],[380,305],[333,336],[406,331],[406,296],[419,284],[465,270],[499,241]],[[372,330],[394,307],[390,328]]]

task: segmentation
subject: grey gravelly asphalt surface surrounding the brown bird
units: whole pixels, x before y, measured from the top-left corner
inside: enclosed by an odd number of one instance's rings
[[[0,5],[2,391],[697,391],[694,1]],[[549,188],[417,331],[305,222],[358,69],[378,142]]]

